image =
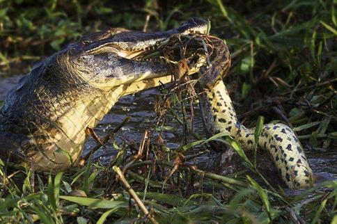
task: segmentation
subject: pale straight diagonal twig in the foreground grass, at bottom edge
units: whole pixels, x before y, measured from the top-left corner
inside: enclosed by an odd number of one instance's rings
[[[141,211],[143,211],[143,213],[148,216],[148,218],[150,219],[150,221],[152,223],[157,224],[158,222],[155,220],[155,217],[152,216],[152,214],[150,214],[150,212],[148,212],[148,209],[146,209],[145,205],[143,204],[143,202],[141,201],[141,199],[138,197],[138,195],[136,194],[136,192],[134,192],[134,190],[131,188],[130,184],[127,182],[127,180],[125,179],[122,170],[120,170],[119,167],[117,166],[113,166],[113,171],[115,171],[115,173],[117,174],[118,180],[120,182],[122,182],[122,184],[124,185],[125,189],[127,190],[127,192],[130,193],[131,197],[134,198],[134,201],[136,202],[136,204],[139,206],[139,208],[141,209]],[[159,224],[159,223],[158,223]]]

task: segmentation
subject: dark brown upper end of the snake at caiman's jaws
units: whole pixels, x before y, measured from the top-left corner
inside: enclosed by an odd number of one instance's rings
[[[203,88],[212,89],[223,79],[230,67],[230,53],[224,40],[212,35],[205,35],[207,62],[201,67],[198,82]]]

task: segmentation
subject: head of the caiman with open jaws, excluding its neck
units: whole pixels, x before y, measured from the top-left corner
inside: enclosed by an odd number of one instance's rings
[[[109,29],[85,35],[69,45],[61,54],[62,66],[68,65],[69,72],[75,72],[81,79],[99,88],[152,79],[171,74],[173,67],[159,60],[161,55],[151,61],[146,60],[147,56],[173,36],[205,34],[206,31],[207,22],[197,18],[189,19],[177,29],[157,33]]]

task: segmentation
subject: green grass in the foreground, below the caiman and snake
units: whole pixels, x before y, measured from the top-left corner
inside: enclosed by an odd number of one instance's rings
[[[130,157],[122,159],[127,163]],[[327,222],[336,214],[336,181],[320,183],[293,196],[266,189],[249,176],[230,178],[180,165],[166,183],[164,176],[157,179],[164,175],[159,170],[174,169],[176,163],[158,159],[155,164],[148,160],[134,162],[125,170],[132,189],[159,223],[289,223],[301,219],[318,223]],[[149,171],[153,166],[156,173]],[[128,189],[116,180],[116,174],[97,163],[89,161],[82,168],[55,176],[29,170],[7,176],[3,169],[1,166],[3,223],[146,220],[139,206],[130,200]],[[152,175],[145,175],[147,172]]]

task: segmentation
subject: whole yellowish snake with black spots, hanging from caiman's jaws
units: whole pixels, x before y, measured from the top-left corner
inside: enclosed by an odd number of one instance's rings
[[[211,135],[222,132],[238,141],[244,150],[253,150],[255,128],[247,129],[237,120],[233,103],[221,74],[226,74],[230,56],[225,42],[210,38],[214,46],[210,56],[212,66],[203,69],[200,82],[205,93],[201,95],[204,125]],[[258,145],[272,155],[275,166],[289,188],[306,188],[311,184],[312,170],[301,143],[294,131],[283,124],[262,127]]]

